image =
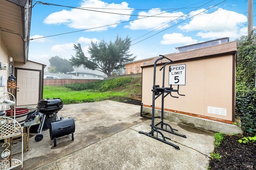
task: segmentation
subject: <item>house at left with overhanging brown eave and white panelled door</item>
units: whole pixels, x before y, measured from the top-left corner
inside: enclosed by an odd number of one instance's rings
[[[32,0],[0,0],[0,76],[16,77],[16,106],[42,99],[44,64],[28,60]],[[8,91],[7,83],[0,91]],[[0,92],[0,96],[2,92]]]

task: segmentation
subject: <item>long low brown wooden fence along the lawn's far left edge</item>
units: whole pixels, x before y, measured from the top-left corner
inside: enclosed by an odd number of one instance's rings
[[[44,79],[44,86],[60,86],[70,83],[88,83],[98,80],[92,79]]]

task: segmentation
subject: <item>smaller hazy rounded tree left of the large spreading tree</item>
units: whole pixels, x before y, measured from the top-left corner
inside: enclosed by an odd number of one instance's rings
[[[74,68],[70,61],[67,59],[62,59],[58,56],[51,57],[49,59],[50,62],[50,69],[48,68],[48,71],[52,71],[54,73],[59,72],[59,73],[64,73],[66,74],[67,72],[72,72],[74,71]],[[53,69],[55,66],[56,69]]]

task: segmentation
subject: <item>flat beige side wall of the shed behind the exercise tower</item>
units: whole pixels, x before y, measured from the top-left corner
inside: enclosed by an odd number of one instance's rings
[[[174,63],[186,64],[186,85],[180,86],[179,98],[170,95],[164,98],[164,108],[206,117],[232,121],[232,86],[233,57],[232,55]],[[162,71],[156,67],[156,84],[162,87]],[[142,103],[152,105],[154,67],[143,68],[142,71]],[[165,87],[168,87],[169,71],[166,66]],[[174,89],[177,86],[173,86]],[[173,92],[173,96],[178,96]],[[234,101],[234,100],[233,100]],[[226,109],[226,115],[208,113],[208,106]],[[161,97],[155,101],[155,107],[161,107]]]

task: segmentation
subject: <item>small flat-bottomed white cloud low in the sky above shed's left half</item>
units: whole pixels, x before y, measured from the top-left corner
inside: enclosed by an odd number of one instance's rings
[[[184,37],[182,33],[164,34],[161,44],[185,44],[197,43],[192,37]]]

